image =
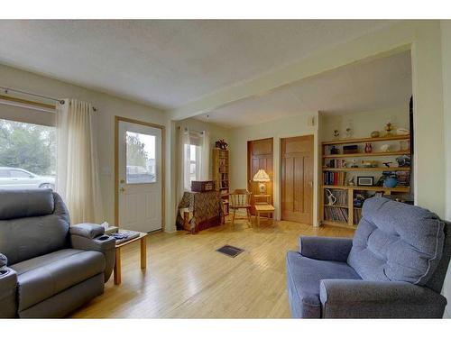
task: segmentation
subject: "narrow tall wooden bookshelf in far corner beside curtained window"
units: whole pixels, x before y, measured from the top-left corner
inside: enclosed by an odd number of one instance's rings
[[[215,148],[213,150],[213,179],[216,190],[219,190],[223,200],[224,215],[229,214],[228,196],[230,194],[230,156],[229,151]]]

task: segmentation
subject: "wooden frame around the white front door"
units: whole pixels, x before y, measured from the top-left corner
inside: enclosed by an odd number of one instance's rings
[[[166,149],[165,149],[165,130],[166,127],[161,124],[155,124],[150,122],[143,122],[139,120],[133,120],[128,117],[117,116],[115,115],[115,225],[119,226],[119,123],[127,122],[140,124],[146,127],[152,127],[161,129],[161,231],[165,230],[165,158],[166,158]]]

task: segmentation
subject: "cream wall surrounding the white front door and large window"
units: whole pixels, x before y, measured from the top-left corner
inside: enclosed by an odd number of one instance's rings
[[[98,156],[100,164],[100,183],[103,197],[105,219],[108,223],[114,224],[115,215],[115,115],[133,118],[136,120],[157,123],[170,126],[167,117],[161,111],[149,106],[139,105],[115,96],[109,96],[100,92],[89,90],[83,87],[73,86],[52,78],[32,74],[20,69],[14,69],[0,65],[0,86],[14,87],[39,93],[43,96],[59,98],[78,98],[90,102],[97,107],[97,138]],[[0,105],[0,118],[14,118],[17,114],[21,120],[21,109]],[[32,112],[36,118],[40,119],[40,114],[46,116],[48,113]],[[22,116],[23,117],[23,116]],[[22,118],[23,120],[23,118]],[[167,128],[168,129],[168,128]],[[167,131],[166,142],[170,146],[170,130]],[[170,178],[170,157],[167,157],[166,177]],[[170,191],[171,180],[166,179],[166,191]],[[173,220],[172,208],[170,208],[170,194],[166,194],[166,230],[173,231],[175,221]]]

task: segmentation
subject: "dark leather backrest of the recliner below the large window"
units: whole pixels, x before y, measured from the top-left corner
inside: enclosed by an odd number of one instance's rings
[[[22,214],[15,213],[15,215],[22,215],[22,218],[0,220],[0,252],[8,258],[8,264],[15,264],[69,247],[69,213],[61,197],[45,189],[43,190],[45,194],[36,190],[24,191],[34,193],[15,194],[13,192],[12,196],[15,203],[29,211],[24,211]],[[5,206],[10,206],[3,200],[3,198],[10,198],[9,193],[9,191],[2,192],[0,209],[5,210]],[[39,198],[37,200],[36,196],[39,196],[42,201]],[[48,200],[49,196],[51,196],[51,202]],[[41,214],[49,212],[50,214],[38,215],[37,209],[41,207],[43,208]],[[30,211],[35,208],[37,209],[34,212]]]

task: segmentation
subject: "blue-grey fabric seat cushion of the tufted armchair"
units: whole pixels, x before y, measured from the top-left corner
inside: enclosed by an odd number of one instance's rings
[[[360,279],[345,262],[313,260],[299,252],[287,253],[287,282],[291,314],[297,318],[320,318],[321,279]]]

